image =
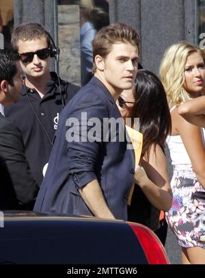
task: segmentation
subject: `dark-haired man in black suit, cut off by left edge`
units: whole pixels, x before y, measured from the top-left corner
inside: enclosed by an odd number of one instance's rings
[[[32,209],[38,185],[25,159],[20,130],[4,116],[22,86],[20,64],[11,51],[0,50],[0,209]]]

